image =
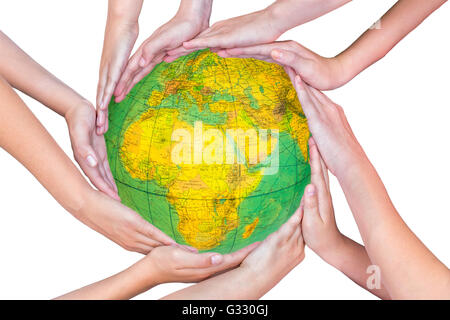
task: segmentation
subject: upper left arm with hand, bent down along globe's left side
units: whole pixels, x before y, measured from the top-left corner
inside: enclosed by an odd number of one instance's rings
[[[92,105],[40,66],[2,32],[0,75],[14,88],[65,117],[74,156],[81,169],[99,190],[118,199],[103,137],[96,137],[94,133]]]

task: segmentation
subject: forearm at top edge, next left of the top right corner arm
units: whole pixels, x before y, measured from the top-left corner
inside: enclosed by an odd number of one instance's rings
[[[314,20],[351,0],[278,0],[266,10],[280,34]]]

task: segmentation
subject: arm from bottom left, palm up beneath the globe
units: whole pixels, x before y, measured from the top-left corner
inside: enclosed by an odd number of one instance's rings
[[[213,252],[193,253],[178,246],[158,247],[130,268],[57,299],[131,299],[159,284],[196,282],[234,268],[254,248],[255,245],[250,245],[222,256]]]

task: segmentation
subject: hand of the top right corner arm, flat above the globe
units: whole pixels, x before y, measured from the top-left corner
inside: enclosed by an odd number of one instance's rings
[[[339,56],[324,58],[295,41],[220,50],[218,54],[224,58],[255,58],[291,67],[305,83],[319,90],[336,89],[351,79]]]

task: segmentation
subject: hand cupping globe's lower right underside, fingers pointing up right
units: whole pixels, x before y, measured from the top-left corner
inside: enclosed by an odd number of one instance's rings
[[[272,287],[305,258],[305,243],[300,227],[301,212],[298,209],[280,229],[269,235],[242,262],[240,268],[250,271],[253,281],[267,281]],[[265,288],[266,292],[270,288]]]

